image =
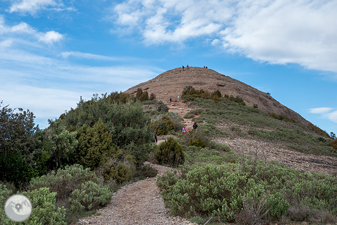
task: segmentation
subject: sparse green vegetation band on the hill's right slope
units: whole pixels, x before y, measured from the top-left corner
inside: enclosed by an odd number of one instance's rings
[[[200,113],[200,116],[196,119],[199,123],[205,122],[221,127],[221,124],[231,122],[239,126],[250,127],[245,131],[240,129],[240,132],[236,132],[237,128],[232,129],[239,136],[246,135],[248,138],[277,140],[285,143],[290,149],[303,153],[337,156],[337,151],[330,146],[331,138],[326,132],[318,132],[320,129],[317,127],[314,129],[315,126],[313,125],[306,127],[294,123],[293,120],[288,118],[264,113],[259,108],[242,105],[239,100],[233,101],[233,99],[230,100],[227,97],[221,97],[217,101],[200,97],[188,97],[186,99],[189,100],[188,104],[191,106],[199,107],[194,110]],[[236,99],[240,98],[236,97]],[[317,132],[320,136],[317,135]]]

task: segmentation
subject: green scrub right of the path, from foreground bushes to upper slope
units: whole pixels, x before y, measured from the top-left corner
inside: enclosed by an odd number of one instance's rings
[[[335,156],[335,140],[326,132],[246,106],[239,96],[219,96],[192,87],[187,87],[183,96],[185,102],[197,107],[186,118],[200,115],[195,119],[200,129],[178,137],[185,164],[157,180],[165,206],[173,214],[199,224],[211,217],[211,223],[238,224],[337,220],[337,177],[239,156],[228,146],[209,141],[220,134],[228,135],[219,125],[234,122],[237,126],[230,127],[232,135],[259,136],[285,142],[294,151]],[[250,129],[240,129],[240,125]]]

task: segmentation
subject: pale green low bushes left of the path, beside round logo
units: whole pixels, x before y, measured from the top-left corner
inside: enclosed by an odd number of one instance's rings
[[[84,169],[75,164],[33,178],[29,189],[33,193],[37,190],[47,192],[48,189],[48,192],[54,193],[53,204],[67,208],[67,217],[76,218],[86,211],[97,209],[110,202],[112,191],[102,183],[103,180],[89,168]]]

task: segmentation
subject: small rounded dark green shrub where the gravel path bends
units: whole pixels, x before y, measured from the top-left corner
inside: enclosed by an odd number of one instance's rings
[[[156,159],[160,164],[178,166],[185,162],[185,154],[181,145],[173,137],[169,137],[158,145]]]

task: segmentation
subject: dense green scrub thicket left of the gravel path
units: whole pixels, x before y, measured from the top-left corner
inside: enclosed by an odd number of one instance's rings
[[[45,130],[29,110],[2,106],[0,202],[23,193],[34,206],[23,224],[66,224],[95,213],[125,182],[155,176],[143,165],[155,149],[141,103],[147,95],[80,99]],[[1,224],[15,223],[0,211]]]

